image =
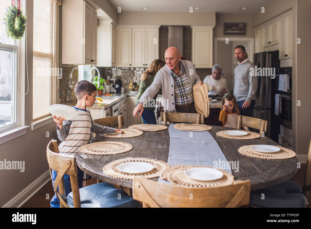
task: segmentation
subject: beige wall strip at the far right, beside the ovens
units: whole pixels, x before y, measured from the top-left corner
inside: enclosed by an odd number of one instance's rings
[[[310,0],[295,0],[293,5],[293,147],[307,154],[311,138],[310,119]],[[297,44],[300,38],[301,44]],[[301,105],[297,106],[297,100]]]

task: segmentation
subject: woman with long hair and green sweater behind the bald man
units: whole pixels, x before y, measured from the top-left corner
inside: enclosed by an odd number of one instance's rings
[[[146,72],[142,74],[141,82],[138,88],[138,93],[136,96],[136,104],[138,100],[140,99],[140,96],[145,92],[147,87],[149,87],[153,79],[156,75],[156,73],[165,66],[165,62],[161,59],[154,60],[151,65],[148,67]],[[158,93],[153,97],[153,100],[156,100],[156,97],[158,94],[162,95],[162,90],[160,89]],[[155,103],[154,103],[155,104]],[[144,109],[144,112],[142,113],[142,120],[144,121],[144,124],[156,124],[156,116],[154,113],[155,107],[146,107]]]

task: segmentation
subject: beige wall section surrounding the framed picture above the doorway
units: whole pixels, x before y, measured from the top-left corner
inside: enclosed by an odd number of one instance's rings
[[[253,24],[252,24],[252,15],[236,15],[228,13],[216,13],[216,26],[213,30],[214,37],[255,37]],[[246,23],[246,35],[224,35],[224,22],[245,22]]]

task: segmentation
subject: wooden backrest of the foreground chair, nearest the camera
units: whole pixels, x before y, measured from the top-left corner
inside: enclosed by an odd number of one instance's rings
[[[143,207],[206,208],[239,207],[249,204],[250,180],[214,188],[188,188],[134,177],[133,199]]]

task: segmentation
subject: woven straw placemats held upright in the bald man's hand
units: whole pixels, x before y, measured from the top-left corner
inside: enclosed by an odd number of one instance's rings
[[[197,113],[203,114],[206,118],[209,114],[208,92],[205,90],[203,84],[198,87],[197,85],[193,86],[193,100]]]

